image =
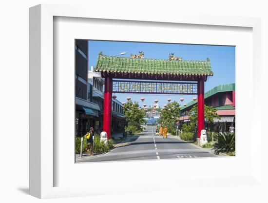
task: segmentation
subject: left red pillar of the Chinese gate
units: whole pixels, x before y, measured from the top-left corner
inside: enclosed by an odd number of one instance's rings
[[[112,92],[113,78],[105,77],[104,82],[104,103],[103,103],[103,131],[107,133],[107,138],[111,139],[112,124]]]

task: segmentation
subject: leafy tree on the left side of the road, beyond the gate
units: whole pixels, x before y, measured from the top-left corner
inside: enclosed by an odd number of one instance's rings
[[[143,109],[139,108],[138,102],[129,101],[124,105],[124,114],[126,121],[128,122],[128,127],[126,129],[132,129],[132,131],[140,131],[140,124],[144,123],[145,113]],[[135,133],[135,132],[133,132]]]

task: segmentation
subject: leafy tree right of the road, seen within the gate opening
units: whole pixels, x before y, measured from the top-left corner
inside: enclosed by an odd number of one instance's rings
[[[168,131],[173,135],[176,134],[175,122],[180,117],[180,104],[176,101],[168,103],[167,106],[161,111],[158,123],[167,125]]]

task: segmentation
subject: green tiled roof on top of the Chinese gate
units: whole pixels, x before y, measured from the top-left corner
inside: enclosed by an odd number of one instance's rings
[[[95,71],[120,73],[205,75],[212,76],[210,60],[170,61],[163,59],[133,59],[98,55]]]

